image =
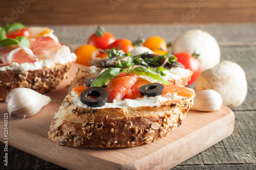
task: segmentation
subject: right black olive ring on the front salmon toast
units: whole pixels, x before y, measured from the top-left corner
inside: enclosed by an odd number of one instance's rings
[[[160,83],[150,83],[139,88],[141,95],[157,96],[163,93],[164,86]]]

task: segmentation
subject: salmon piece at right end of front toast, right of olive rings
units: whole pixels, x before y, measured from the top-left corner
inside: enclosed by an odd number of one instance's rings
[[[191,96],[195,96],[195,92],[191,91],[190,89],[184,87],[184,86],[178,86],[178,85],[172,85],[172,84],[163,84],[164,90],[163,93],[161,94],[162,96],[170,93],[177,93],[177,95],[186,97],[186,98],[191,98]]]

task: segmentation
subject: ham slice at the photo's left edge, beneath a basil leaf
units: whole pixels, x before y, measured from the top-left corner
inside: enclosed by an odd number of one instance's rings
[[[34,63],[36,60],[33,57],[33,52],[26,47],[0,47],[0,66],[9,65],[12,62]]]

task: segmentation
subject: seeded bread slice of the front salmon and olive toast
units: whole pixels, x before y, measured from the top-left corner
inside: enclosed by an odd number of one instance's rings
[[[159,106],[85,109],[67,95],[52,119],[49,139],[69,147],[123,148],[153,142],[180,126],[193,98]]]

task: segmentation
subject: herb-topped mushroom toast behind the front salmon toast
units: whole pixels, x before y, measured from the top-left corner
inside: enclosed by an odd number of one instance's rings
[[[143,50],[138,50],[142,48]],[[162,75],[170,84],[174,85],[187,85],[190,81],[190,77],[193,72],[189,69],[184,69],[184,66],[177,62],[177,58],[173,55],[159,55],[153,53],[146,47],[136,47],[131,53],[124,53],[122,50],[106,50],[108,57],[103,58],[92,58],[90,60],[90,67],[82,67],[78,70],[76,77],[67,86],[67,91],[71,93],[73,87],[82,86],[84,79],[88,77],[98,77],[100,72],[108,67],[119,67],[126,68],[130,64],[135,66],[145,66],[150,68],[152,71],[158,72]],[[140,76],[141,78],[147,79],[151,82],[157,82],[154,79]]]

